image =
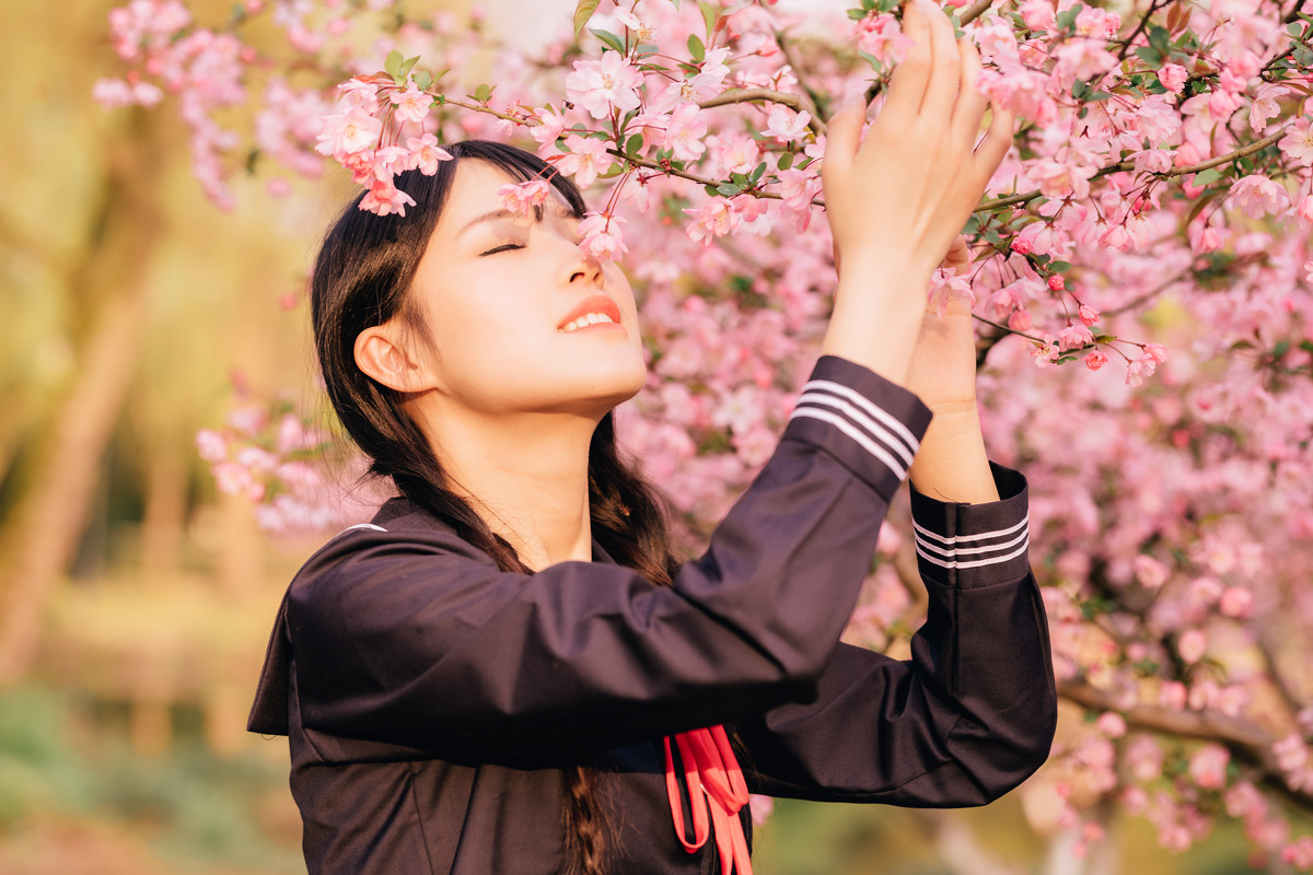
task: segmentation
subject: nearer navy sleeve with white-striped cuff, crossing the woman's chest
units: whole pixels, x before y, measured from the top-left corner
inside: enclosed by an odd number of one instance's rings
[[[670,588],[609,563],[496,568],[357,530],[294,581],[302,727],[448,757],[575,754],[806,701],[930,411],[822,357],[772,458]]]

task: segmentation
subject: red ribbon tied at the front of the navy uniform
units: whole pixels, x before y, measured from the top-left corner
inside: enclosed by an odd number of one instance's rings
[[[747,804],[747,783],[739,769],[734,749],[720,725],[692,729],[675,735],[679,758],[684,763],[684,784],[693,812],[693,841],[684,837],[684,807],[679,799],[679,777],[675,757],[666,736],[666,791],[670,795],[670,815],[675,821],[675,834],[689,854],[706,844],[708,826],[716,828],[716,849],[721,854],[721,872],[752,875],[747,855],[747,838],[738,819],[739,808]],[[701,790],[702,792],[699,792]],[[704,802],[705,799],[705,802]],[[710,824],[706,811],[710,808]]]

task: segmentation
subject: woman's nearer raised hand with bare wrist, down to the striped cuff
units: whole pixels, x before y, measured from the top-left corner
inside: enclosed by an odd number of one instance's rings
[[[865,139],[865,101],[830,118],[821,178],[843,273],[822,352],[905,383],[926,290],[1003,155],[1012,115],[976,88],[979,54],[956,39],[932,0],[910,0],[903,33],[915,41]]]

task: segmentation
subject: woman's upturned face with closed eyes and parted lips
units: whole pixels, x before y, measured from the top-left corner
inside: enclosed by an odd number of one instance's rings
[[[555,189],[541,220],[487,216],[507,182],[519,180],[462,159],[415,274],[439,392],[482,413],[600,418],[646,378],[633,290],[614,262],[579,248],[579,220]],[[580,327],[587,314],[613,321]]]

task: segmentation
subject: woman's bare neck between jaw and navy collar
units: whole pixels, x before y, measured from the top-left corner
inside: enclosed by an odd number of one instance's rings
[[[597,418],[574,413],[428,416],[453,492],[532,569],[592,559],[588,445]]]

